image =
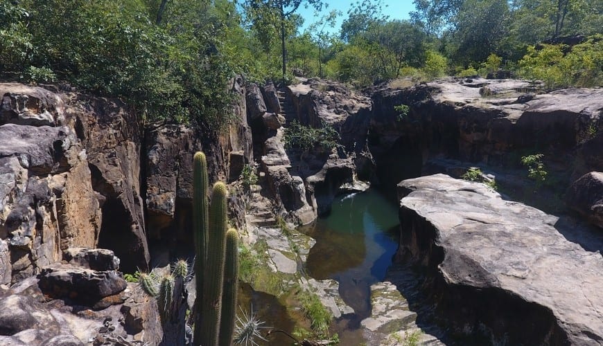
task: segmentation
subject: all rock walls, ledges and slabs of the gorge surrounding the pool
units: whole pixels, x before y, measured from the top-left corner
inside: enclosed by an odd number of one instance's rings
[[[603,343],[603,89],[474,78],[364,94],[236,79],[232,90],[236,121],[217,133],[146,123],[119,100],[0,84],[0,311],[11,311],[0,338],[161,343],[157,303],[119,271],[190,255],[192,157],[203,150],[211,181],[230,183],[232,223],[265,261],[258,291],[309,291],[335,318],[353,313],[337,281],[304,274],[315,241],[292,228],[329,214],[340,194],[381,185],[401,201],[400,240],[371,286],[365,342],[402,345],[422,329],[430,344]],[[295,122],[334,129],[337,145],[291,147]],[[543,154],[554,185],[527,178],[530,154]],[[253,166],[258,181],[244,186]],[[473,166],[500,194],[458,179]]]

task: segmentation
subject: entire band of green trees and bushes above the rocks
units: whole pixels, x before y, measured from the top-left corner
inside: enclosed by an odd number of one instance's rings
[[[0,0],[0,77],[69,82],[148,119],[211,125],[226,123],[235,73],[367,86],[504,68],[550,88],[602,84],[603,0],[414,0],[410,20],[363,0],[301,32],[299,7],[328,2]]]

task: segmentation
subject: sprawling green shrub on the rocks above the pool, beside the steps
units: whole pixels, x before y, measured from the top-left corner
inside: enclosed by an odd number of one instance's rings
[[[317,147],[330,151],[338,147],[339,134],[329,124],[323,123],[320,129],[304,126],[297,121],[285,129],[285,147],[311,151]]]

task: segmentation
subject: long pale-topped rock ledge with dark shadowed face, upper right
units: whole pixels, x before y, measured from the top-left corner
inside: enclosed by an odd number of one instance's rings
[[[575,146],[599,126],[603,91],[537,94],[537,88],[525,81],[475,78],[372,89],[369,147],[379,178],[394,185],[419,176],[421,165],[438,156],[519,165],[520,152],[540,152],[554,165],[573,169]],[[410,107],[408,115],[394,109],[399,104]],[[585,150],[591,163],[597,162],[591,158],[595,147]]]

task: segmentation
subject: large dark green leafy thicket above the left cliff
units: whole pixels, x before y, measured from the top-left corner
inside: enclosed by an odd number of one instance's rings
[[[232,117],[227,83],[236,64],[224,54],[227,30],[217,29],[238,26],[218,9],[227,1],[169,1],[161,23],[156,2],[2,1],[1,77],[66,80],[123,98],[149,120],[223,128]]]

